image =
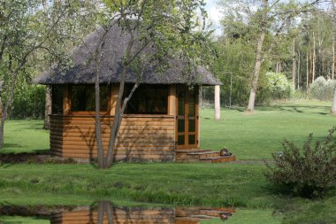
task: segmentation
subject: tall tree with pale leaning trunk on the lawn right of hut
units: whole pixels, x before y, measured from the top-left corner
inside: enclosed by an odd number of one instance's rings
[[[285,1],[221,1],[226,11],[237,11],[241,13],[243,23],[253,24],[253,34],[250,38],[255,38],[255,62],[252,75],[249,80],[250,91],[248,99],[248,112],[253,112],[256,103],[256,91],[259,87],[261,71],[265,62],[270,62],[272,56],[276,56],[275,50],[278,46],[287,42],[286,39],[293,41],[291,29],[297,27],[297,16],[309,12],[317,1],[312,2],[285,2]],[[251,32],[252,33],[252,32]],[[277,61],[277,69],[282,70],[281,63]],[[295,73],[293,73],[295,77]]]

